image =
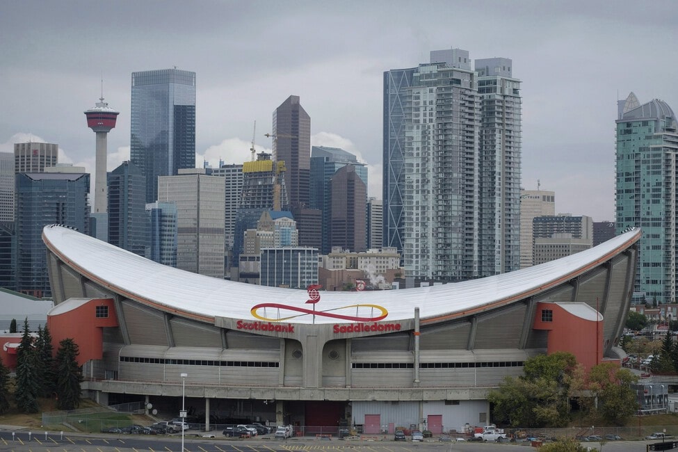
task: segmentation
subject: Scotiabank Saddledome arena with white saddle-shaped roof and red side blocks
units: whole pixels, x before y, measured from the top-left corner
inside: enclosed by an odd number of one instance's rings
[[[59,225],[42,239],[47,324],[57,346],[79,345],[83,394],[99,403],[177,416],[185,394],[208,429],[250,419],[435,434],[490,423],[488,390],[531,356],[624,357],[640,230],[478,280],[317,293],[188,273]]]

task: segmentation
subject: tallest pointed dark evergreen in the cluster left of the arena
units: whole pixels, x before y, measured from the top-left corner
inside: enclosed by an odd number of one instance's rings
[[[26,413],[38,412],[40,386],[36,374],[36,362],[37,353],[33,348],[33,337],[29,332],[29,319],[26,317],[24,320],[24,335],[17,347],[17,387],[14,394],[17,407]]]

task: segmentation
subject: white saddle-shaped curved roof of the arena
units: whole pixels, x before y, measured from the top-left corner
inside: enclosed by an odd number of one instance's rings
[[[355,322],[337,316],[400,321],[412,319],[414,307],[420,308],[422,323],[428,323],[509,305],[562,284],[629,248],[640,239],[640,229],[576,255],[478,280],[390,291],[321,291],[315,320],[312,312],[300,312],[313,309],[313,305],[306,304],[309,296],[305,290],[258,286],[181,271],[57,225],[46,226],[42,238],[67,265],[115,293],[209,323],[215,317],[289,323]],[[252,309],[257,305],[267,306]],[[387,311],[386,316],[380,315],[380,307]]]

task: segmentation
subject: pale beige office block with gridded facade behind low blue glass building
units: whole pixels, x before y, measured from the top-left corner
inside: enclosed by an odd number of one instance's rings
[[[224,179],[203,168],[158,178],[159,202],[177,205],[177,268],[224,277]]]

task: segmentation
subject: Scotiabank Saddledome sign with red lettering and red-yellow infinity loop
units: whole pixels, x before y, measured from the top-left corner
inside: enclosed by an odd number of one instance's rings
[[[309,300],[307,300],[306,303],[312,304],[313,309],[284,305],[282,303],[259,303],[259,305],[252,306],[250,313],[252,314],[252,317],[259,319],[260,322],[238,321],[236,323],[236,328],[239,330],[294,332],[294,326],[289,323],[284,326],[280,324],[274,325],[273,323],[286,322],[292,318],[302,316],[313,316],[313,323],[315,323],[316,316],[318,316],[357,322],[335,324],[332,327],[332,332],[335,334],[395,332],[401,330],[400,323],[377,323],[389,315],[387,309],[380,305],[346,305],[327,309],[325,311],[316,310],[316,303],[320,301],[320,293],[318,292],[320,287],[321,286],[313,285],[309,286],[307,289]],[[348,312],[351,314],[348,314]]]

